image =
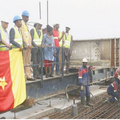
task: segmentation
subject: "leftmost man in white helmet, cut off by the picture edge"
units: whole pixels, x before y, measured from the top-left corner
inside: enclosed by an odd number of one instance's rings
[[[0,26],[0,51],[6,51],[9,50],[11,48],[10,45],[10,40],[9,40],[9,35],[7,32],[7,28],[8,28],[8,20],[6,18],[1,20],[1,26]],[[6,47],[5,47],[6,46]]]

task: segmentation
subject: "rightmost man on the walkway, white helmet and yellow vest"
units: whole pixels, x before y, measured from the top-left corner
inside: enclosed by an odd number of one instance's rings
[[[72,41],[73,37],[69,33],[70,27],[66,26],[66,32],[63,37],[64,39],[64,62],[66,61],[66,74],[69,74],[69,67],[70,67],[70,56],[72,55]]]

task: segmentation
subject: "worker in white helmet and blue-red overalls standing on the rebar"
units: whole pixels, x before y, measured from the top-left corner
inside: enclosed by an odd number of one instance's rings
[[[83,107],[92,106],[90,104],[90,92],[89,92],[89,71],[87,68],[87,59],[83,58],[82,60],[83,66],[79,69],[78,72],[78,82],[80,85],[80,96],[81,96],[81,104]],[[85,104],[85,95],[86,95],[86,104]]]

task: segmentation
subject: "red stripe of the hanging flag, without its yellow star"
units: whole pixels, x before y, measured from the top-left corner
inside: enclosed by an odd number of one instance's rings
[[[10,110],[14,106],[9,51],[0,51],[0,79],[3,78],[7,85],[4,86],[4,90],[0,85],[0,112]]]

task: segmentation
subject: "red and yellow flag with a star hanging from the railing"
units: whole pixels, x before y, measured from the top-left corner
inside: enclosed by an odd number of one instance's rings
[[[0,51],[0,112],[13,109],[26,99],[22,52]]]

